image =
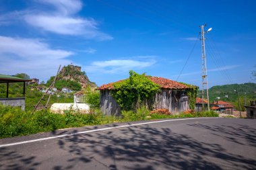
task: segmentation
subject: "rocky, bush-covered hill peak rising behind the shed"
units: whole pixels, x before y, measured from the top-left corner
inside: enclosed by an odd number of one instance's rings
[[[46,85],[51,85],[55,76],[47,81]],[[67,65],[61,69],[55,82],[55,87],[61,90],[63,87],[69,87],[72,90],[78,91],[86,86],[97,87],[95,83],[88,79],[86,73],[81,71],[81,67]]]

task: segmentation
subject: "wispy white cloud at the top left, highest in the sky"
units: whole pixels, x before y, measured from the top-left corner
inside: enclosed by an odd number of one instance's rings
[[[0,24],[6,25],[9,21],[22,19],[30,26],[54,34],[82,36],[90,40],[113,39],[112,36],[100,32],[98,22],[92,17],[77,16],[83,6],[79,0],[37,0],[35,2],[41,3],[41,7],[47,7],[47,11],[42,9],[13,11],[0,16]]]

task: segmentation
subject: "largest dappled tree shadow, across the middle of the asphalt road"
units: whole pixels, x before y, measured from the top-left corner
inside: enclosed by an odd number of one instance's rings
[[[256,168],[255,160],[228,153],[220,144],[199,142],[170,128],[148,125],[120,128],[115,133],[106,130],[67,136],[58,144],[74,157],[66,160],[67,165],[53,169],[77,169],[77,164],[113,170]]]

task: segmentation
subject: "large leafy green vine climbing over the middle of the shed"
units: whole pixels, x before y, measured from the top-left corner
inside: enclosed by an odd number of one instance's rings
[[[123,110],[140,108],[146,100],[153,99],[160,89],[160,86],[150,81],[145,73],[139,75],[134,71],[129,71],[129,79],[114,83],[113,87],[111,95]]]

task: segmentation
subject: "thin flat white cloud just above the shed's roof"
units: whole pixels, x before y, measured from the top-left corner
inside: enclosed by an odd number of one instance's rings
[[[131,69],[143,69],[150,67],[156,63],[156,60],[103,60],[95,61],[88,67],[86,71],[90,73],[125,73]]]

